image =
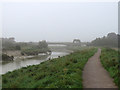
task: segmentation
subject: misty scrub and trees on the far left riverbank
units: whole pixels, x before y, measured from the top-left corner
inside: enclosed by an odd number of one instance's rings
[[[47,42],[15,42],[14,38],[2,38],[2,50],[20,50],[21,55],[38,55],[39,53],[51,52],[48,48]]]

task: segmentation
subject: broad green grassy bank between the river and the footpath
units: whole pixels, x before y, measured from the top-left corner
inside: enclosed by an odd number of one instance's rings
[[[2,75],[3,88],[82,88],[82,70],[96,48]]]

